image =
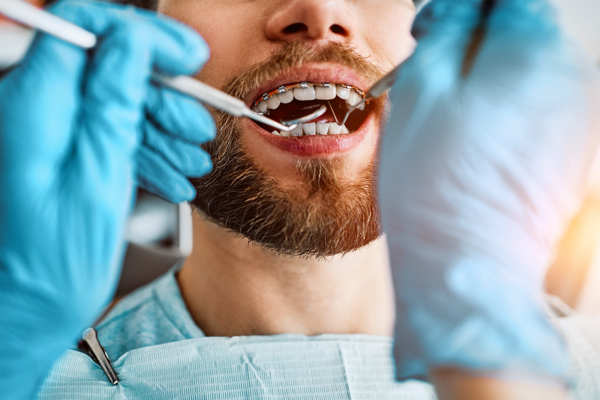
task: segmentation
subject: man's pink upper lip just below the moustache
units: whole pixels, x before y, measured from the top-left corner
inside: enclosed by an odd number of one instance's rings
[[[263,83],[254,91],[250,92],[245,103],[250,106],[260,95],[272,91],[281,85],[289,85],[298,82],[328,82],[344,83],[352,85],[355,88],[366,92],[372,82],[368,82],[367,77],[357,74],[352,68],[343,67],[333,62],[307,63],[302,67],[290,68],[286,72],[278,75],[274,79]]]

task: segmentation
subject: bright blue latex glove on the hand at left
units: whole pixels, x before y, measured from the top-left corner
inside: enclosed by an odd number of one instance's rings
[[[0,390],[31,399],[53,360],[113,294],[134,182],[173,201],[210,160],[214,121],[149,83],[193,74],[208,47],[192,29],[133,7],[50,8],[98,35],[86,50],[38,35],[0,80]]]

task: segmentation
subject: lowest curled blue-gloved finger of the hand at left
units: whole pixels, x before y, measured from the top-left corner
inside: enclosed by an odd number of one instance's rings
[[[180,203],[196,197],[190,181],[160,154],[142,146],[136,154],[137,183],[163,199]]]

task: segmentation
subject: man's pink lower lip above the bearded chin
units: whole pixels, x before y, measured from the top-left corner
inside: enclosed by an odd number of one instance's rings
[[[250,119],[244,119],[244,131],[259,134],[268,145],[281,151],[299,156],[310,157],[315,155],[331,155],[339,152],[350,151],[362,143],[369,127],[374,124],[375,116],[371,112],[361,127],[353,133],[339,135],[316,135],[283,137],[265,131]]]

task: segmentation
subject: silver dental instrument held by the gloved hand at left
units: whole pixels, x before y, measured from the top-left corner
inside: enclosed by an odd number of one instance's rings
[[[90,49],[97,43],[96,36],[74,23],[59,18],[48,11],[40,10],[23,0],[0,0],[0,14],[23,25],[46,32],[83,49]],[[244,116],[262,122],[282,131],[291,131],[296,125],[286,126],[264,115],[254,112],[243,101],[199,82],[189,76],[165,76],[152,74],[152,80],[164,86],[183,92],[202,103],[215,107],[233,116]]]

